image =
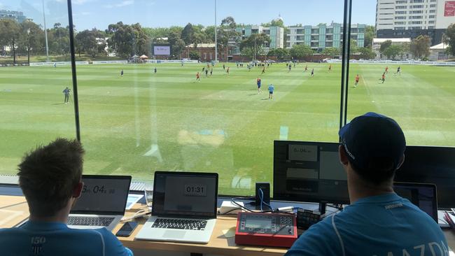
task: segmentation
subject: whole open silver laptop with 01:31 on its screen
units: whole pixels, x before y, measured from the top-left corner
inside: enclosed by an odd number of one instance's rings
[[[209,243],[217,197],[218,173],[156,171],[152,216],[135,239]]]

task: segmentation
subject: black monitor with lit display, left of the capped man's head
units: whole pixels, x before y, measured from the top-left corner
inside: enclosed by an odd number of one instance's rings
[[[274,141],[274,199],[349,204],[338,146],[339,143]]]

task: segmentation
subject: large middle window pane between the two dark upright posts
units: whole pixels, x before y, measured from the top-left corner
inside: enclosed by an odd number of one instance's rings
[[[221,194],[253,194],[274,140],[338,141],[343,3],[326,2],[75,1],[85,172],[218,172]]]

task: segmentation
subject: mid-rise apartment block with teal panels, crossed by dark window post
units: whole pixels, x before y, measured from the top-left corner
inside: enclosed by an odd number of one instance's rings
[[[365,24],[351,24],[351,39],[356,41],[358,47],[365,45],[365,27]],[[342,42],[342,24],[322,23],[317,26],[288,27],[286,48],[292,48],[295,44],[304,44],[320,52],[328,47],[339,48]]]

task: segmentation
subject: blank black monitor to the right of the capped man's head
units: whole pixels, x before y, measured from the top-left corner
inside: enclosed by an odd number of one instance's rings
[[[405,162],[395,173],[395,181],[435,184],[437,205],[455,207],[455,148],[407,146]]]

